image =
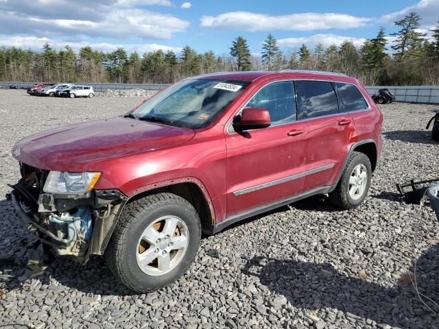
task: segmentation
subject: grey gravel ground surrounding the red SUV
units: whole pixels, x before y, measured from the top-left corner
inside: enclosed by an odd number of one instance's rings
[[[10,149],[58,125],[112,117],[141,98],[49,99],[0,90],[0,193],[19,179]],[[56,260],[25,280],[32,235],[0,201],[0,324],[36,328],[439,328],[418,289],[439,304],[439,224],[428,208],[403,204],[394,184],[438,175],[439,145],[424,130],[436,106],[382,106],[384,150],[361,208],[339,211],[326,197],[285,206],[202,239],[195,263],[169,287],[137,295],[102,258]],[[1,199],[1,198],[0,198]],[[432,302],[427,305],[439,313]],[[436,307],[436,308],[435,308]],[[19,328],[19,327],[17,327]]]

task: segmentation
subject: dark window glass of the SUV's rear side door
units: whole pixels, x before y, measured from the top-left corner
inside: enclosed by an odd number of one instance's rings
[[[299,80],[296,86],[298,119],[337,114],[338,102],[331,82]]]

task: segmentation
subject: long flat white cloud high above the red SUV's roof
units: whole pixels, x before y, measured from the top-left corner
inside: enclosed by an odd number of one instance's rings
[[[254,12],[226,12],[218,16],[202,16],[201,26],[217,29],[236,29],[242,31],[272,31],[314,29],[351,29],[370,23],[372,19],[347,14],[302,13],[283,16],[270,16]]]

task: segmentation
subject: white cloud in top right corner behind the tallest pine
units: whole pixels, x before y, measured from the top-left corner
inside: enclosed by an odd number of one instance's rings
[[[381,16],[383,22],[394,22],[402,19],[409,12],[416,12],[421,18],[421,24],[423,26],[434,26],[439,20],[439,1],[438,0],[420,0],[416,5],[410,5],[409,7],[399,10],[398,12],[392,12]]]

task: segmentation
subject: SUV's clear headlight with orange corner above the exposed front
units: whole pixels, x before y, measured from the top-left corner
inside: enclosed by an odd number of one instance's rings
[[[50,171],[43,191],[56,194],[85,194],[95,186],[101,173]]]

